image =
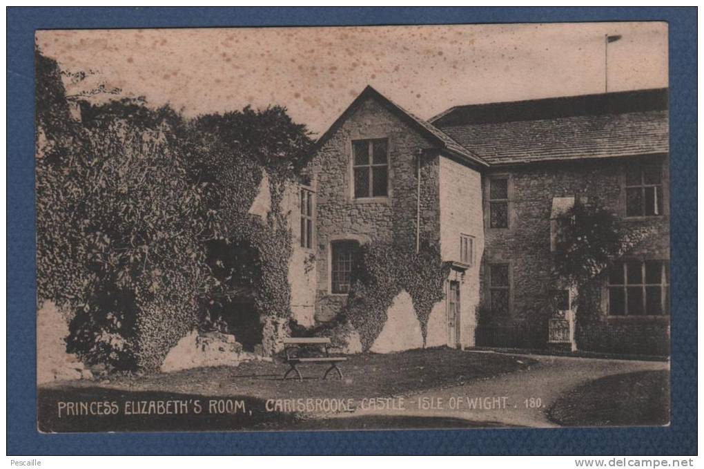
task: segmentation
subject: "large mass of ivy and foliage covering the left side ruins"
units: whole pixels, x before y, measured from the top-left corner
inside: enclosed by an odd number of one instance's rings
[[[73,310],[70,351],[156,368],[198,323],[203,299],[235,281],[251,283],[261,315],[288,318],[281,203],[310,144],[306,127],[278,106],[189,121],[119,97],[82,101],[74,119],[56,62],[37,51],[36,63],[38,299]],[[248,211],[264,173],[272,206],[260,218]],[[254,265],[237,278],[218,271],[213,242],[248,244]]]

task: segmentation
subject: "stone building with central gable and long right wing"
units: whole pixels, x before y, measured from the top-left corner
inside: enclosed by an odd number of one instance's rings
[[[667,89],[457,106],[426,122],[367,87],[318,140],[291,208],[294,315],[336,318],[361,244],[431,243],[452,269],[427,346],[667,354],[668,138]],[[551,280],[554,218],[585,200],[644,235],[577,293]]]

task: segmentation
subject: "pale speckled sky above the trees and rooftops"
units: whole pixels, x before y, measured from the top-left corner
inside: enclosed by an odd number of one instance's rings
[[[40,30],[68,94],[104,83],[191,117],[270,105],[320,135],[367,85],[421,118],[451,106],[667,87],[666,23]],[[113,97],[113,96],[111,96]],[[103,99],[105,97],[103,96]],[[100,99],[100,98],[99,98]]]

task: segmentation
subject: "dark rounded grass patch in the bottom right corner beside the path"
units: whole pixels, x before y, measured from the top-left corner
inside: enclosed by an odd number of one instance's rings
[[[641,371],[593,380],[555,401],[548,417],[566,427],[667,425],[670,373]]]

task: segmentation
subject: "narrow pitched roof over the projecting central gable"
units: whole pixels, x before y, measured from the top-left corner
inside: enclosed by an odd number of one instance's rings
[[[439,130],[434,125],[428,123],[425,120],[422,120],[421,118],[418,118],[412,113],[406,111],[406,109],[402,108],[401,106],[398,106],[398,104],[394,103],[394,101],[391,101],[391,99],[386,98],[386,96],[377,92],[376,89],[370,86],[367,86],[364,91],[361,92],[354,101],[352,101],[352,104],[350,104],[348,108],[345,109],[345,111],[339,116],[339,118],[337,118],[337,120],[332,123],[330,128],[323,135],[320,136],[318,141],[315,142],[315,146],[313,146],[313,151],[317,151],[318,149],[320,149],[320,147],[325,144],[325,142],[327,142],[327,140],[334,134],[334,132],[336,132],[339,127],[344,123],[344,121],[354,111],[356,111],[358,106],[360,106],[360,104],[363,103],[365,99],[375,99],[375,101],[384,106],[384,108],[391,111],[391,113],[396,115],[404,122],[408,123],[408,125],[410,125],[411,127],[414,127],[418,132],[420,132],[421,135],[429,139],[431,142],[438,145],[439,149],[445,150],[448,153],[453,154],[454,156],[457,156],[460,159],[463,159],[469,163],[486,166],[486,163],[482,161],[482,158],[479,158],[476,154],[474,154],[474,152],[460,145],[458,142],[455,142],[454,139],[446,135],[446,133]]]

